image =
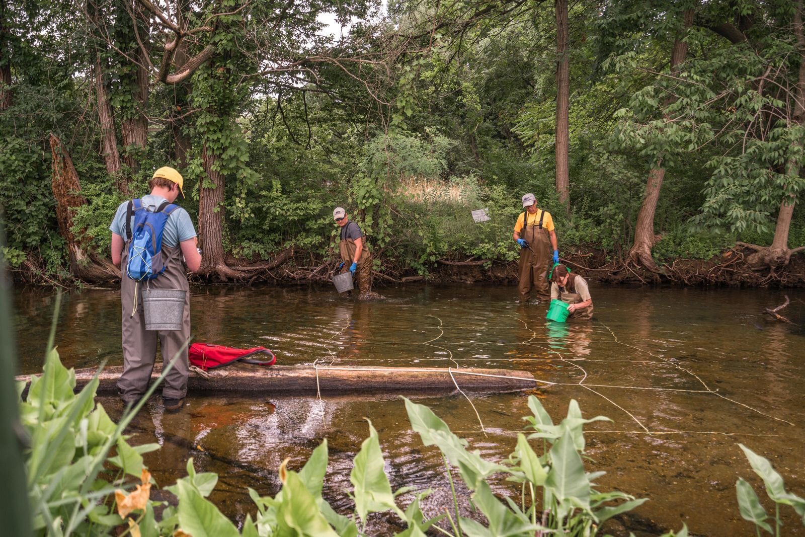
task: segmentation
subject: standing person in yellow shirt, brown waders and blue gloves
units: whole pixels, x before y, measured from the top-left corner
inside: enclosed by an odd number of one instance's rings
[[[537,208],[534,194],[522,196],[522,206],[526,210],[514,224],[514,241],[520,245],[518,290],[520,302],[525,303],[532,289],[536,289],[537,297],[548,299],[548,270],[551,262],[551,246],[553,262],[559,262],[559,246],[556,242],[553,218],[551,213]]]

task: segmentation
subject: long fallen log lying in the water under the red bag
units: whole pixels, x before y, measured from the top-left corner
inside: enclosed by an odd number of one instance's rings
[[[106,367],[99,376],[99,394],[117,394],[122,366]],[[156,364],[151,381],[159,378],[162,364]],[[318,374],[317,374],[318,373]],[[76,390],[95,376],[96,370],[76,370]],[[452,375],[451,375],[452,374]],[[455,382],[453,379],[455,378]],[[17,380],[30,381],[30,375]],[[534,388],[537,383],[527,371],[446,367],[359,367],[359,366],[253,366],[233,364],[204,374],[190,372],[190,393],[266,392],[266,394],[316,394],[317,391],[421,391],[455,390],[511,391]],[[27,386],[25,389],[27,394]],[[24,396],[24,395],[23,395]]]

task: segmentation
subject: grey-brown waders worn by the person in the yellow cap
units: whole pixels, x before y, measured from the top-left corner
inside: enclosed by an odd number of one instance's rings
[[[123,333],[123,374],[118,379],[120,399],[126,403],[140,399],[151,381],[151,371],[156,361],[156,342],[162,347],[163,364],[169,363],[176,356],[173,368],[168,372],[162,386],[162,396],[166,399],[182,399],[188,393],[188,339],[190,337],[190,286],[188,276],[182,262],[180,246],[162,247],[165,259],[165,271],[155,279],[135,282],[126,275],[126,264],[129,261],[129,245],[123,248],[122,279],[120,283],[122,304]],[[134,309],[134,292],[137,296],[137,311]],[[184,294],[184,313],[181,330],[146,330],[145,316],[142,312],[140,290],[182,289]]]

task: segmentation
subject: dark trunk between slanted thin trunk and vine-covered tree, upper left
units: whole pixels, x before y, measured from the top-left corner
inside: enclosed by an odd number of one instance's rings
[[[130,0],[126,0],[130,2]],[[134,13],[135,20],[132,21],[132,31],[134,26],[137,25],[142,14],[142,5],[140,2],[130,2],[130,7]],[[141,38],[147,37],[147,29],[143,29],[140,34]],[[134,99],[133,108],[127,110],[127,114],[121,121],[121,134],[123,136],[123,162],[126,163],[132,171],[137,171],[140,167],[139,160],[144,156],[146,144],[148,141],[148,119],[146,118],[145,110],[148,102],[148,69],[146,52],[141,47],[135,45],[134,49],[130,51],[130,55],[134,58],[134,76],[128,75],[131,96]]]

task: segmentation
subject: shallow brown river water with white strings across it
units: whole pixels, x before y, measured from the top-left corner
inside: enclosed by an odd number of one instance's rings
[[[613,419],[587,426],[586,467],[607,472],[597,480],[600,489],[650,498],[624,520],[638,535],[679,530],[683,522],[696,535],[753,535],[737,510],[737,477],[765,494],[739,442],[769,458],[786,486],[805,496],[803,290],[593,283],[595,318],[564,325],[547,323],[543,307],[518,305],[515,287],[380,291],[385,301],[361,304],[328,287],[196,287],[192,333],[194,341],[269,347],[284,365],[319,360],[528,370],[544,381],[539,388],[469,394],[474,409],[458,392],[411,398],[430,406],[471,448],[496,460],[514,448],[522,416],[529,414],[528,394],[537,394],[557,422],[571,399],[585,417]],[[784,294],[791,305],[782,313],[793,325],[763,313],[781,304]],[[65,365],[122,363],[119,299],[112,288],[64,296],[56,343]],[[47,291],[15,292],[22,373],[41,367],[53,303]],[[101,402],[119,414],[116,399]],[[298,468],[327,438],[324,493],[336,510],[345,511],[352,458],[368,432],[365,417],[378,429],[392,487],[434,489],[424,502],[426,514],[451,506],[439,452],[423,448],[397,394],[345,393],[322,400],[270,393],[191,395],[177,415],[163,415],[155,398],[135,419],[132,441],[163,445],[146,458],[160,485],[184,475],[190,456],[197,471],[219,473],[211,498],[225,514],[242,520],[254,513],[246,487],[274,494],[281,461],[291,457],[290,468]],[[505,483],[496,489],[508,490]],[[785,529],[786,535],[805,535],[790,515]]]

